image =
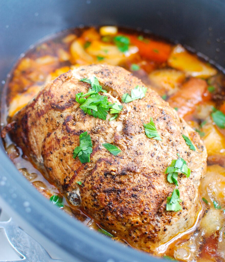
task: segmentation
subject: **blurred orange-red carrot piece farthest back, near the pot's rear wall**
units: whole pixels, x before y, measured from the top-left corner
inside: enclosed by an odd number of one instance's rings
[[[130,38],[131,44],[138,47],[142,57],[161,63],[167,61],[172,50],[171,45],[151,39],[140,40],[138,36],[134,35],[127,36]]]

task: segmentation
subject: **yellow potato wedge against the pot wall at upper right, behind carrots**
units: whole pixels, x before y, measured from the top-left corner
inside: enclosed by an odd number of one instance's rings
[[[168,58],[168,65],[184,71],[187,75],[192,77],[208,78],[217,73],[215,68],[200,61],[196,55],[189,53],[181,45],[176,45],[173,48]]]

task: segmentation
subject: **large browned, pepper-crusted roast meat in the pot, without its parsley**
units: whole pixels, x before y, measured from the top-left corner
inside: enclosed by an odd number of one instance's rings
[[[79,81],[95,76],[104,95],[122,105],[117,119],[94,118],[79,107],[75,97],[87,93],[90,84]],[[121,67],[88,65],[78,67],[46,84],[3,130],[9,132],[29,156],[67,196],[89,216],[133,247],[148,252],[191,228],[201,210],[199,179],[206,170],[206,149],[199,134],[178,117],[153,90],[145,97],[122,103],[141,80]],[[162,141],[146,136],[143,123],[153,119]],[[87,131],[92,140],[90,162],[73,159],[79,135]],[[182,135],[195,147],[190,150]],[[103,143],[117,146],[114,156]],[[190,177],[178,175],[182,210],[166,211],[167,197],[176,186],[167,181],[165,170],[172,160],[183,158]],[[82,182],[81,185],[77,182]]]

